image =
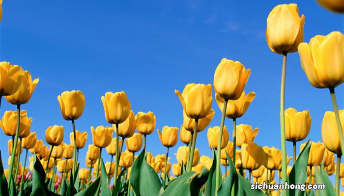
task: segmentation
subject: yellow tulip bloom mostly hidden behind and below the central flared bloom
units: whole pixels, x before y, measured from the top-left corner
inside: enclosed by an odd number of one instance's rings
[[[197,124],[197,132],[201,132],[202,130],[204,130],[211,122],[211,120],[214,118],[215,115],[215,111],[214,110],[210,110],[209,114],[198,120],[198,124]],[[185,111],[183,111],[183,118],[184,118],[184,128],[190,132],[194,132],[195,129],[195,120],[189,118]]]

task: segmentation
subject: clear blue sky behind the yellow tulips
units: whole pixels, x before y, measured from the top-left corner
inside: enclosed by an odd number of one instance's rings
[[[100,97],[107,91],[125,91],[135,114],[152,111],[156,129],[164,125],[180,127],[182,106],[174,89],[187,83],[212,84],[221,59],[237,60],[252,73],[245,91],[257,97],[237,123],[258,127],[255,142],[280,148],[280,77],[282,56],[266,44],[266,18],[274,6],[295,2],[306,17],[305,42],[317,34],[343,32],[343,16],[311,1],[18,1],[4,0],[0,22],[0,59],[21,65],[40,81],[29,103],[22,106],[33,118],[31,131],[44,140],[47,127],[65,127],[69,142],[71,122],[59,110],[57,96],[63,91],[81,90],[86,97],[85,111],[76,128],[88,132],[90,126],[109,125]],[[336,89],[339,108],[344,106],[343,85]],[[213,92],[213,97],[215,93]],[[316,89],[301,69],[298,53],[288,54],[286,108],[310,110],[312,127],[307,139],[321,141],[321,121],[332,110],[327,89]],[[213,101],[220,124],[221,112]],[[5,110],[15,110],[5,99]],[[226,119],[229,130],[232,122]],[[230,132],[230,140],[232,133]],[[166,153],[155,130],[149,135],[148,151]],[[0,132],[0,149],[7,160],[7,140]],[[306,140],[307,140],[306,139]],[[305,140],[305,141],[306,141]],[[299,153],[299,144],[297,152]],[[182,145],[178,141],[177,146]],[[211,156],[206,130],[199,134],[196,147]],[[287,152],[292,155],[287,142]],[[87,147],[81,150],[85,166]],[[176,162],[170,150],[172,163]],[[172,153],[171,153],[172,152]],[[106,161],[110,156],[103,154]],[[6,163],[6,161],[4,161]],[[7,166],[4,166],[7,168]]]

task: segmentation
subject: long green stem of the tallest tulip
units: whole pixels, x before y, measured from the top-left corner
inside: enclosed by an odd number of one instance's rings
[[[282,148],[282,183],[287,181],[287,151],[286,151],[286,127],[284,117],[285,87],[287,70],[287,52],[283,52],[282,76],[281,76],[281,104],[280,104],[280,125],[281,125],[281,148]],[[287,190],[282,190],[282,195],[287,195]]]

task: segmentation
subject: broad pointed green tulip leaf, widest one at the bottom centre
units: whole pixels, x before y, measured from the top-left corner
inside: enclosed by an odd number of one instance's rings
[[[157,196],[162,188],[161,182],[154,169],[146,162],[145,152],[143,149],[133,163],[129,177],[130,183],[136,196]]]

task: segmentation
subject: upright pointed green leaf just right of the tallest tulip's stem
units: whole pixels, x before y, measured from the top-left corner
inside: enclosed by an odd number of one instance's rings
[[[287,182],[289,184],[304,184],[307,180],[307,163],[308,155],[311,148],[311,143],[307,142],[302,152],[296,159],[294,166],[292,167]],[[287,189],[287,196],[301,196],[303,191],[299,189]]]

